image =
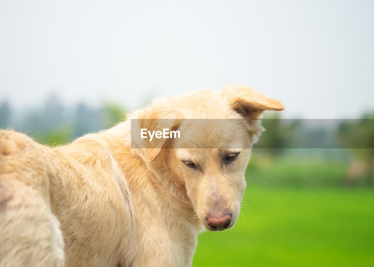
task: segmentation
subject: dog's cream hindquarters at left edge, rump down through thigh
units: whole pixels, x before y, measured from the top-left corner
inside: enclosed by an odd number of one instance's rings
[[[52,214],[39,146],[0,131],[0,267],[64,266],[59,222]]]

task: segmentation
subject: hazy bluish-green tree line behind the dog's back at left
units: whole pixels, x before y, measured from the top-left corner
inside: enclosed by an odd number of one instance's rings
[[[0,104],[0,128],[14,125],[17,131],[27,133],[36,141],[53,145],[110,128],[126,118],[126,110],[113,103],[104,103],[99,108],[81,103],[75,109],[66,109],[56,94],[51,94],[42,108],[27,110],[14,120],[12,114],[7,102]]]

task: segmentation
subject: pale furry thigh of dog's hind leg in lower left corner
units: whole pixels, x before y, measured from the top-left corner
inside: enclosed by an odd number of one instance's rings
[[[0,266],[64,266],[59,223],[39,193],[3,182],[0,211]]]

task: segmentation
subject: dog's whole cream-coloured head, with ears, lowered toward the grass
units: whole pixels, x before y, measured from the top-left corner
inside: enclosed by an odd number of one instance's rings
[[[261,113],[283,109],[277,100],[234,86],[163,98],[138,117],[156,119],[142,122],[143,128],[157,124],[180,132],[181,138],[154,139],[148,160],[162,157],[175,182],[185,186],[197,220],[215,231],[233,226],[239,216],[251,146],[263,131]]]

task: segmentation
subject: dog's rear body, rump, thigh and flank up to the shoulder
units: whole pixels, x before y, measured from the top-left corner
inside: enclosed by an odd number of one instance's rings
[[[0,267],[129,265],[134,211],[105,145],[87,135],[50,148],[0,131]]]

